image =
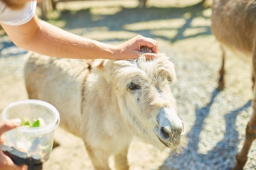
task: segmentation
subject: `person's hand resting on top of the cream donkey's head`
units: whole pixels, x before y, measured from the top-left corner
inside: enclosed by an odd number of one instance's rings
[[[147,46],[151,48],[152,53],[141,52],[141,47]],[[137,35],[134,38],[124,42],[123,44],[116,46],[117,54],[115,55],[116,60],[126,60],[138,58],[140,55],[144,55],[147,60],[154,59],[158,53],[157,41],[146,38],[141,35]]]

